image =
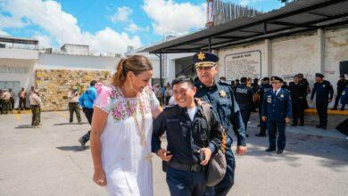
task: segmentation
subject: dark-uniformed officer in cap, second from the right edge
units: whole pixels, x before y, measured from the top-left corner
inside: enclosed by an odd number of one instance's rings
[[[315,81],[313,90],[311,91],[311,102],[314,94],[316,94],[315,105],[319,115],[319,125],[323,129],[327,129],[327,104],[332,101],[334,96],[334,88],[327,80],[324,80],[324,75],[320,73],[315,74]]]

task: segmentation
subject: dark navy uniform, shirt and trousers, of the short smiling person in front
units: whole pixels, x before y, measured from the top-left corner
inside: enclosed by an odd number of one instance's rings
[[[164,109],[153,123],[152,151],[157,153],[161,149],[160,137],[166,132],[167,151],[173,155],[166,168],[166,180],[173,196],[203,195],[206,170],[200,165],[203,159],[198,151],[207,147],[215,153],[221,148],[223,129],[218,119],[210,109],[211,121],[208,125],[203,107],[196,105],[193,120],[186,108],[174,105]]]

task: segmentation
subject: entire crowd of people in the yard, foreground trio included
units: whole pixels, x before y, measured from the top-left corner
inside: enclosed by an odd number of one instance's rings
[[[290,119],[293,118],[292,126],[304,126],[309,94],[311,102],[316,97],[317,127],[327,128],[327,104],[333,100],[334,89],[324,75],[316,74],[312,88],[301,73],[289,85],[277,76],[262,78],[261,84],[258,78],[240,78],[228,84],[226,78],[215,79],[218,56],[200,52],[193,59],[195,82],[180,76],[164,87],[151,87],[151,62],[133,55],[119,62],[110,86],[93,80],[82,94],[76,87],[70,89],[69,122],[73,122],[75,113],[81,124],[82,108],[91,125],[79,143],[85,147],[90,140],[95,184],[106,186],[112,195],[153,195],[153,152],[163,161],[171,195],[227,195],[235,179],[233,135],[236,153],[243,155],[252,112],[258,110],[260,116],[256,136],[269,135],[266,151],[278,154],[286,148],[285,130]],[[347,84],[340,76],[333,110],[339,100],[344,110]],[[0,92],[2,113],[13,110],[12,90]],[[19,110],[24,110],[24,88],[18,96]],[[32,126],[40,127],[41,99],[34,87],[29,91],[29,102]],[[164,134],[167,148],[161,142]],[[226,164],[220,167],[224,175],[208,176],[209,163],[219,153],[223,153]]]

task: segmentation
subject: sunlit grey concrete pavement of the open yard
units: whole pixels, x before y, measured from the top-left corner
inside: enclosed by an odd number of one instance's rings
[[[30,128],[30,118],[0,116],[0,195],[107,195],[92,182],[90,151],[77,141],[89,125],[70,125],[68,111],[42,113],[42,128]],[[335,130],[286,127],[286,151],[277,155],[264,151],[267,138],[253,136],[255,118],[249,150],[236,156],[236,184],[228,195],[348,195],[348,142],[336,132],[311,134]],[[169,195],[156,156],[153,187],[155,195]]]

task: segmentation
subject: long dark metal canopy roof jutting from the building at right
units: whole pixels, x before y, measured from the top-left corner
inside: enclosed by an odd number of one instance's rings
[[[139,52],[195,53],[344,24],[348,24],[348,0],[299,0],[276,11],[231,20]]]

